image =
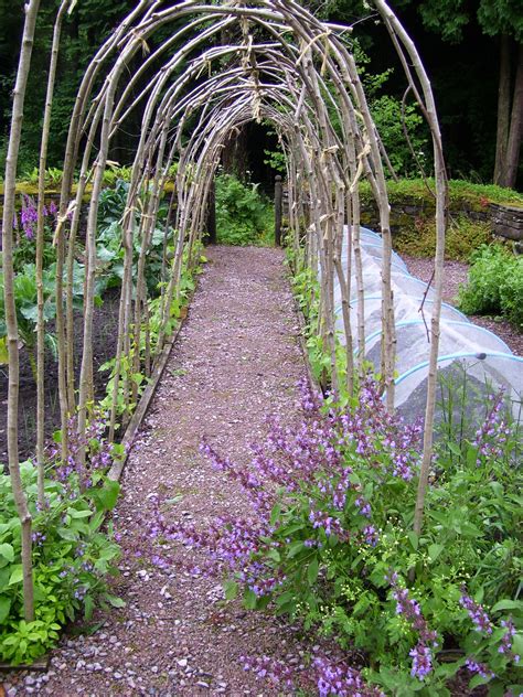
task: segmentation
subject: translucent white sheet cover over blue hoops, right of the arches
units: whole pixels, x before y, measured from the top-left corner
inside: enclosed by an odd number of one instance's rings
[[[361,248],[365,344],[363,347],[356,346],[355,354],[363,352],[365,361],[378,371],[383,258],[380,235],[362,228]],[[345,244],[343,249],[346,250]],[[354,264],[354,255],[352,262]],[[346,255],[342,259],[342,265],[346,270]],[[350,317],[355,340],[360,297],[354,268],[353,266]],[[410,421],[425,412],[435,291],[408,274],[405,262],[395,253],[391,278],[397,340],[395,406]],[[343,342],[341,289],[338,281],[334,283],[334,307],[335,326]],[[503,389],[514,419],[523,423],[523,358],[514,356],[499,336],[473,324],[462,312],[445,302],[441,307],[440,332],[436,420],[441,423],[445,419],[461,418],[477,427],[478,422],[484,419],[489,397]],[[452,414],[452,410],[456,414]]]

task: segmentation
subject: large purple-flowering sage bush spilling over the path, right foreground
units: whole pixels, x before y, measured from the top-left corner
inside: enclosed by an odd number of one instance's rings
[[[305,390],[302,421],[271,420],[247,468],[204,444],[250,514],[205,529],[179,524],[160,538],[205,550],[227,598],[241,592],[247,608],[299,620],[311,642],[331,637],[348,652],[335,663],[340,683],[319,682],[320,695],[354,694],[355,654],[366,682],[387,694],[449,695],[458,671],[470,689],[520,694],[522,500],[517,433],[502,405],[491,396],[474,438],[441,448],[420,536],[412,529],[420,426],[391,416],[366,380],[350,410]]]

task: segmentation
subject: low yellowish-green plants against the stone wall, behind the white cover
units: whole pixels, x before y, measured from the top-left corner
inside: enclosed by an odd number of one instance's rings
[[[490,223],[471,221],[465,215],[452,218],[447,229],[445,257],[467,261],[481,245],[492,239]],[[394,247],[399,254],[414,257],[434,257],[436,254],[436,224],[434,219],[418,217],[413,226],[402,229],[394,237]]]

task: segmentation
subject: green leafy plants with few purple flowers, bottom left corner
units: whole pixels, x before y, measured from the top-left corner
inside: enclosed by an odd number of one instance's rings
[[[105,423],[94,420],[84,441],[87,465],[78,469],[79,449],[74,422],[70,439],[72,457],[60,462],[50,453],[45,505],[36,503],[36,468],[21,464],[22,482],[33,518],[33,579],[35,619],[23,619],[20,519],[11,481],[0,474],[0,660],[30,663],[56,644],[60,630],[81,612],[89,619],[95,603],[122,607],[108,592],[106,577],[116,571],[119,547],[113,526],[104,519],[118,495],[117,482],[104,471],[122,454],[121,447],[104,441]]]

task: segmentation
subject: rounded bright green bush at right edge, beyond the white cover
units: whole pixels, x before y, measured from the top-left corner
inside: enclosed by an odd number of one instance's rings
[[[483,245],[459,292],[463,312],[502,314],[523,328],[523,258],[501,245]]]

